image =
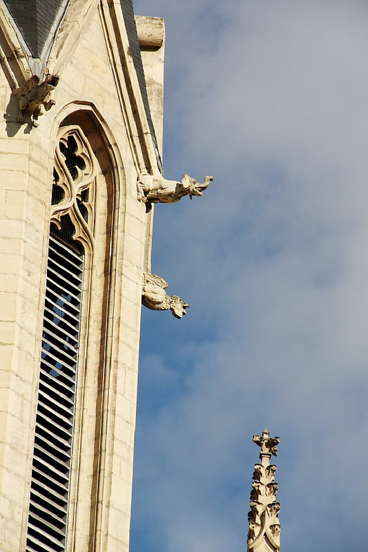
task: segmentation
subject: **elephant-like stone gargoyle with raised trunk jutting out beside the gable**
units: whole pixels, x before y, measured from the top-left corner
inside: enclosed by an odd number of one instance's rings
[[[184,195],[192,199],[193,195],[202,195],[212,180],[213,177],[206,176],[201,184],[189,175],[184,175],[182,181],[177,182],[166,180],[162,175],[141,172],[137,178],[137,199],[146,203],[148,208],[153,203],[175,203]]]

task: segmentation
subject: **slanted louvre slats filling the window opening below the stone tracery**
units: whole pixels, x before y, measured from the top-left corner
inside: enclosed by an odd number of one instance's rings
[[[61,218],[48,247],[27,552],[66,544],[84,255],[70,218]]]

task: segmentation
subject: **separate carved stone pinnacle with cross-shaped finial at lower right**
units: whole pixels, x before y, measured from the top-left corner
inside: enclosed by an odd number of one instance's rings
[[[278,455],[279,437],[270,437],[264,430],[262,436],[253,435],[253,442],[260,446],[260,464],[255,464],[253,489],[251,491],[251,511],[248,514],[249,529],[247,552],[278,552],[280,550],[280,522],[276,501],[278,484],[275,482],[275,464],[270,464],[271,456]]]

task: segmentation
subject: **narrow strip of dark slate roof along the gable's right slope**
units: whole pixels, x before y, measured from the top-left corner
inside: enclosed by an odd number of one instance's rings
[[[143,69],[143,63],[142,63],[141,50],[139,48],[137,26],[135,24],[135,19],[134,19],[133,0],[120,0],[120,3],[122,5],[126,32],[128,34],[130,52],[132,53],[135,70],[137,72],[139,88],[141,90],[142,99],[144,103],[144,109],[146,111],[146,117],[148,120],[148,125],[153,139],[153,144],[155,144],[157,163],[158,163],[159,169],[162,170],[162,161],[161,161],[161,157],[159,156],[159,149],[157,146],[155,128],[153,126],[151,110],[148,103],[146,77],[144,77],[144,69]]]

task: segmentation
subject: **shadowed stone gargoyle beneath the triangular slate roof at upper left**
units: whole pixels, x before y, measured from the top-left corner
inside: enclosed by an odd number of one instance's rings
[[[22,123],[23,115],[29,115],[33,126],[38,126],[37,118],[43,114],[43,110],[48,111],[55,106],[55,101],[50,99],[50,93],[55,90],[58,83],[57,75],[46,72],[43,81],[38,75],[33,75],[22,86],[13,90],[12,93],[19,103],[17,122]]]

